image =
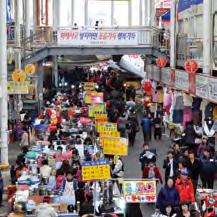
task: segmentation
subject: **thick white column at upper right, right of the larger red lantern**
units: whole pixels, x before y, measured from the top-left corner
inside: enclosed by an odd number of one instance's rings
[[[210,0],[203,1],[203,73],[211,75],[211,47],[212,47],[212,29],[211,29],[211,11],[212,3]]]

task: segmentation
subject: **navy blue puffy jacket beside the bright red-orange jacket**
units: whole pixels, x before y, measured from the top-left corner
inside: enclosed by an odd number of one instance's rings
[[[173,207],[179,206],[179,192],[174,187],[169,188],[167,185],[161,188],[157,197],[157,208],[163,210],[165,206],[171,205]]]

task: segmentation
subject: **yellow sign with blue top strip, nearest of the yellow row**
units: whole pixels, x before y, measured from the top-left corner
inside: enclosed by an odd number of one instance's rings
[[[107,180],[111,178],[109,161],[90,161],[81,164],[82,181]]]

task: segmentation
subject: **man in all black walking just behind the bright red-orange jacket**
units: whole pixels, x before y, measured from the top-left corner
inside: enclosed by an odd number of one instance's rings
[[[195,158],[194,152],[189,152],[189,160],[188,160],[187,167],[190,172],[192,184],[194,186],[194,193],[196,193],[197,183],[200,174],[200,161]]]

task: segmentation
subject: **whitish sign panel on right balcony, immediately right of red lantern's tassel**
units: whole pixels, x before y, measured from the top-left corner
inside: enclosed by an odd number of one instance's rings
[[[209,95],[209,79],[208,77],[196,75],[196,95],[208,99]]]

